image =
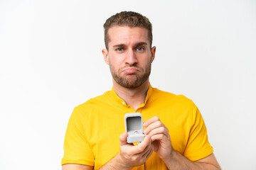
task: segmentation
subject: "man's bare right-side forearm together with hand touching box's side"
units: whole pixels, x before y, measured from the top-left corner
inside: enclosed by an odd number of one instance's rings
[[[171,147],[171,137],[168,128],[161,123],[158,117],[155,116],[146,120],[144,126],[146,127],[144,134],[150,135],[154,152],[158,154],[169,169],[220,169],[214,154],[210,154],[210,156],[196,162],[191,162],[176,152]]]

